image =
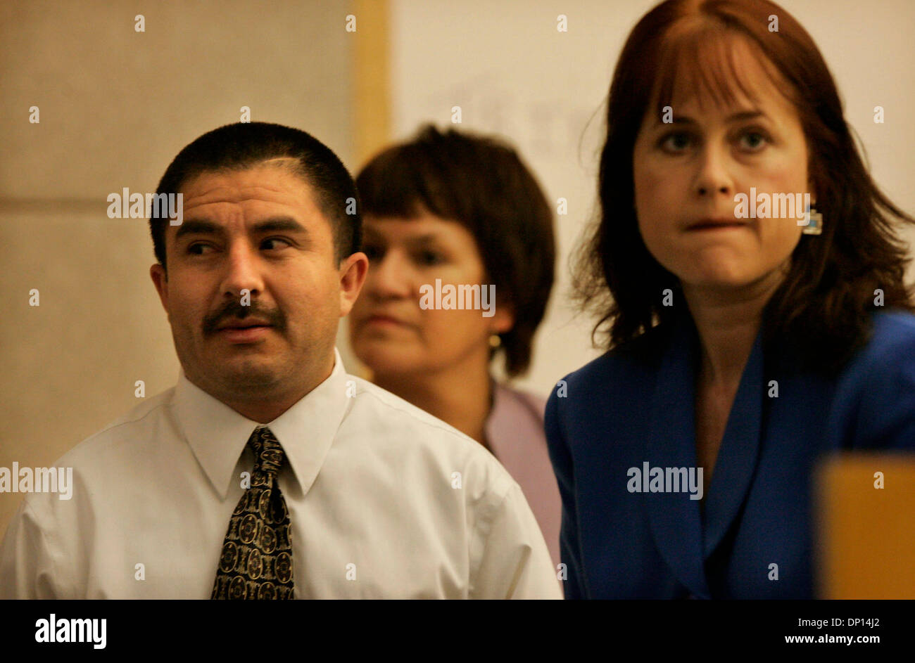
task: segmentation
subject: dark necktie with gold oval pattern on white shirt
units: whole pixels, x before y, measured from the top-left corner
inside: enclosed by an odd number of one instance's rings
[[[229,520],[211,599],[291,599],[292,529],[276,473],[283,447],[269,428],[248,438],[254,452],[251,487]]]

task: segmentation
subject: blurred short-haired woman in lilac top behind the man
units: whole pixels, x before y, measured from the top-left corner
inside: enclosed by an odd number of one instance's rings
[[[369,275],[350,344],[372,380],[483,444],[522,487],[559,561],[560,501],[544,400],[522,375],[554,279],[550,206],[506,144],[423,128],[356,178]],[[453,295],[448,298],[450,288]],[[458,306],[462,306],[458,308]]]

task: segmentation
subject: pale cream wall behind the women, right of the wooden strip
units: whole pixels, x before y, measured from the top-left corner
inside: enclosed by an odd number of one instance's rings
[[[568,200],[557,217],[558,282],[518,384],[548,393],[581,367],[592,321],[569,302],[567,258],[595,209],[603,102],[630,29],[656,0],[391,0],[393,134],[419,123],[503,134],[539,176],[547,198]],[[784,0],[823,52],[860,134],[877,183],[915,214],[915,2]],[[568,32],[556,30],[567,17]],[[873,122],[881,105],[886,123]],[[828,222],[828,219],[827,219]],[[909,241],[915,241],[910,232]],[[910,270],[915,280],[915,269]]]

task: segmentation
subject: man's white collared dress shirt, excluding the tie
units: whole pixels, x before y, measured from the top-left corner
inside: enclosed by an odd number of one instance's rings
[[[209,599],[257,422],[178,385],[56,464],[0,550],[0,598]],[[522,490],[480,444],[348,375],[267,424],[288,462],[296,598],[560,598]],[[142,565],[142,566],[141,566]]]

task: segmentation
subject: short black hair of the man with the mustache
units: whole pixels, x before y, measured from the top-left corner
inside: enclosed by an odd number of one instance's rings
[[[264,122],[226,124],[188,144],[169,164],[158,194],[178,194],[202,173],[245,170],[268,160],[296,159],[295,172],[315,192],[315,203],[333,231],[337,262],[359,251],[359,195],[350,173],[330,148],[299,129]],[[347,213],[348,211],[353,213]],[[156,260],[166,265],[167,217],[154,207],[149,219]]]

